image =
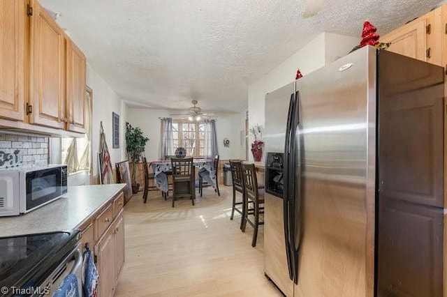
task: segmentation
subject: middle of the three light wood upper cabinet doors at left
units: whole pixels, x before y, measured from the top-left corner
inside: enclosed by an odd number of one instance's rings
[[[65,128],[64,31],[31,0],[30,123]]]

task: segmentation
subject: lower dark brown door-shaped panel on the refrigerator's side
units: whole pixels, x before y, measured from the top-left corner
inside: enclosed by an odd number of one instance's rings
[[[443,208],[379,197],[377,296],[442,296]]]

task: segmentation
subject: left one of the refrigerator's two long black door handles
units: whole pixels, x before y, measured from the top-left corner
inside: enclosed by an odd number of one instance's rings
[[[291,180],[289,179],[288,172],[290,171],[290,149],[291,149],[291,128],[293,125],[293,111],[295,107],[295,94],[291,94],[291,101],[288,105],[288,116],[287,116],[287,125],[286,125],[286,140],[284,146],[284,239],[286,243],[286,256],[287,256],[287,267],[288,267],[288,277],[291,280],[294,279],[293,275],[293,262],[291,259],[291,241],[290,241],[290,231],[289,231],[289,200],[290,200],[290,190],[289,185],[291,184]]]

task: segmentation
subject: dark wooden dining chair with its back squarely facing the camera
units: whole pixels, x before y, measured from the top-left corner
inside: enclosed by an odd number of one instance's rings
[[[196,175],[193,158],[171,158],[173,172],[173,207],[179,197],[189,197],[194,205],[196,199]]]

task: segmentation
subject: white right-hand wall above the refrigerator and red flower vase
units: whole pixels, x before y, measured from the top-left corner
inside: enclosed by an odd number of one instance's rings
[[[342,36],[335,33],[321,33],[301,50],[290,56],[277,67],[266,73],[261,79],[249,85],[248,107],[249,128],[254,124],[265,124],[265,94],[281,88],[295,80],[297,69],[302,75],[345,56],[360,42],[359,38]],[[249,135],[249,146],[253,142]],[[265,153],[263,153],[265,158]],[[249,153],[249,160],[253,156]]]

